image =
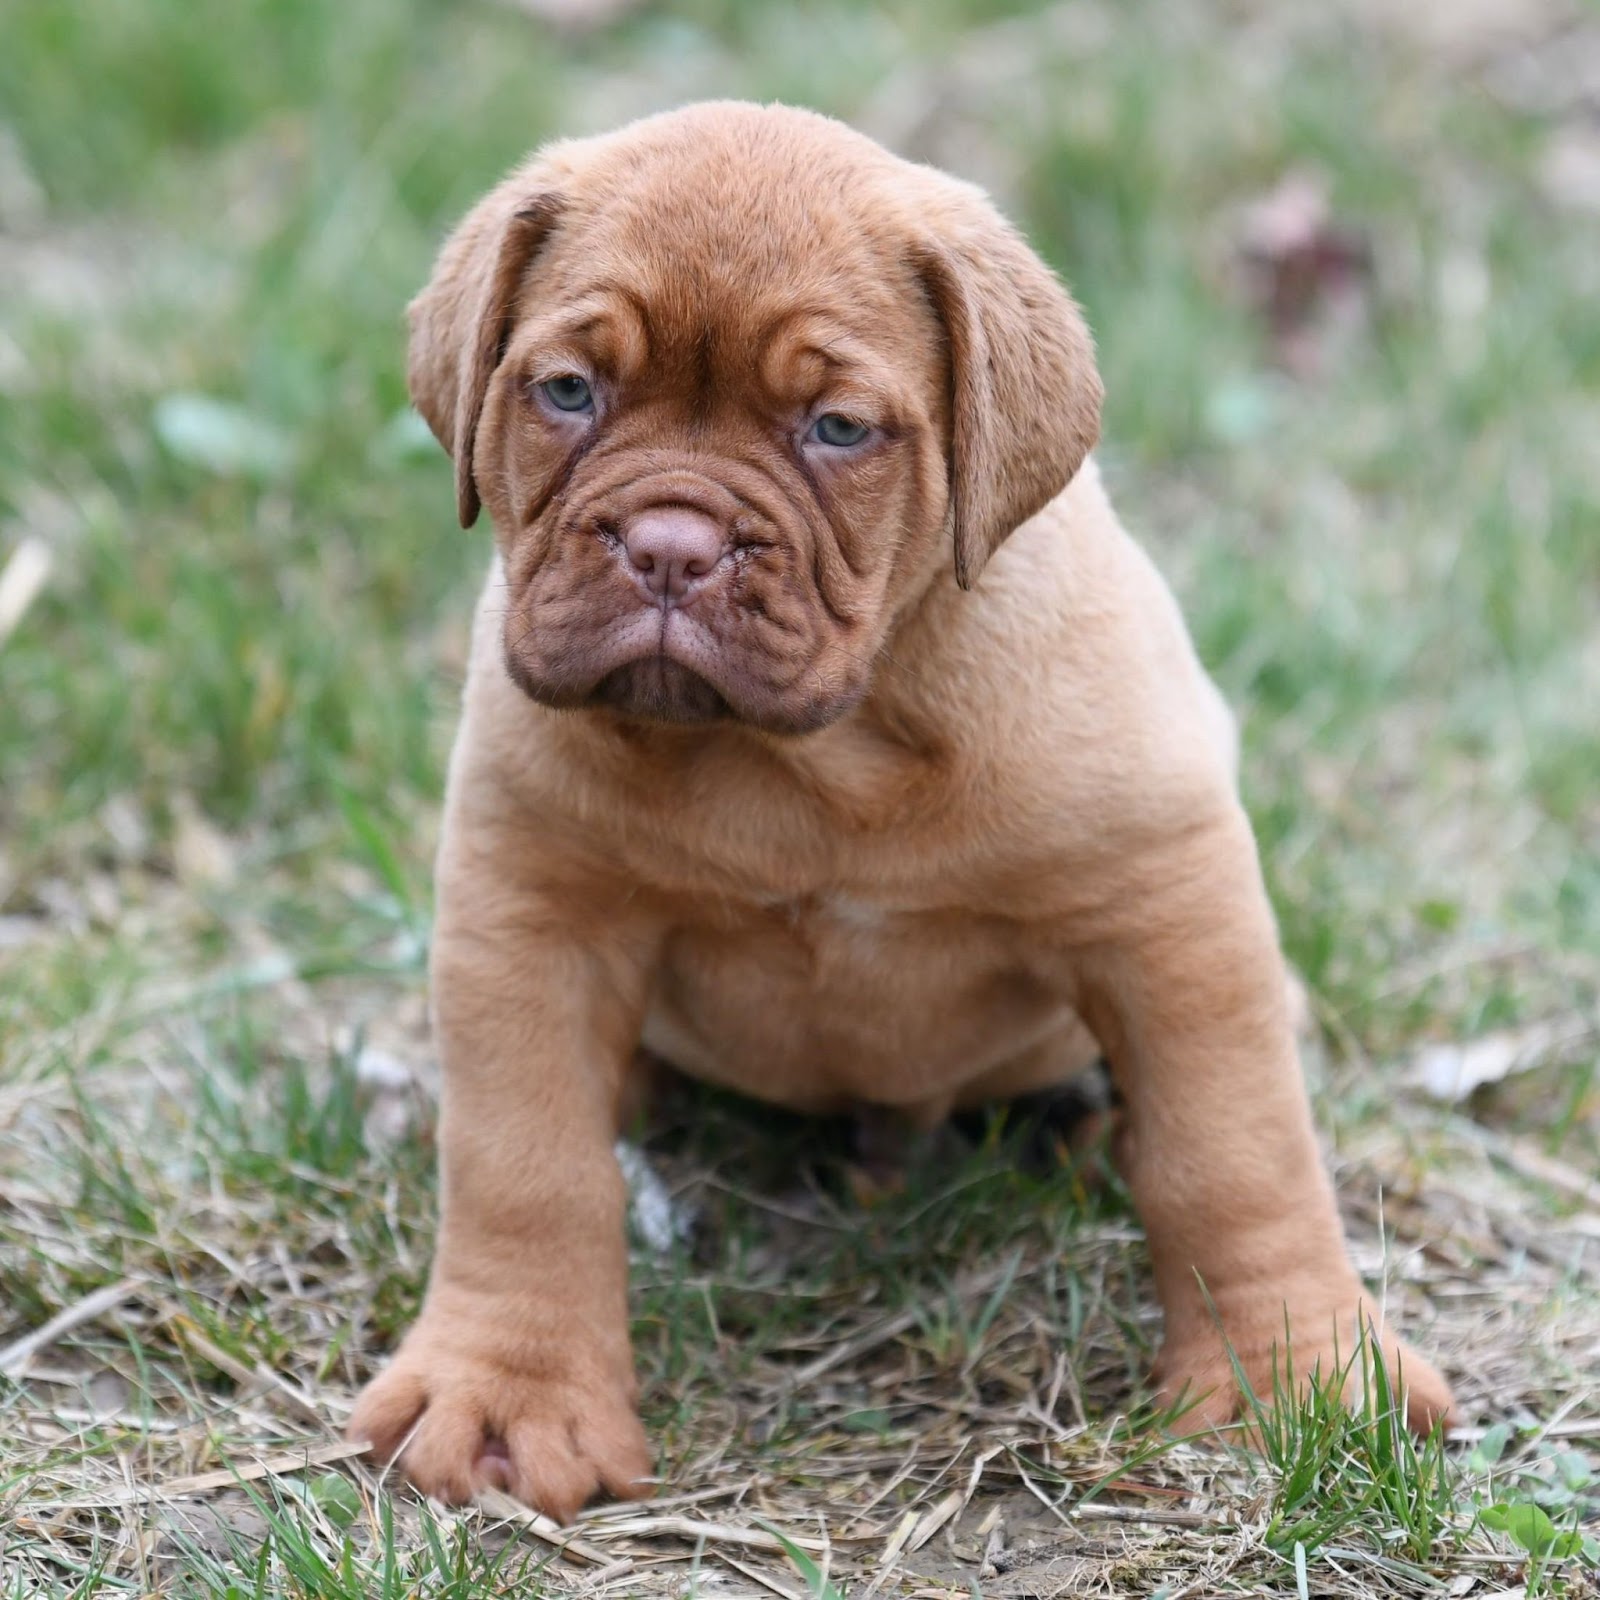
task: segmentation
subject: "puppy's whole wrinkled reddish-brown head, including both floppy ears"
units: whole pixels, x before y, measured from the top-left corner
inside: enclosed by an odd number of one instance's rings
[[[411,307],[411,394],[550,706],[819,728],[1094,443],[1061,285],[966,184],[811,112],[552,146]]]

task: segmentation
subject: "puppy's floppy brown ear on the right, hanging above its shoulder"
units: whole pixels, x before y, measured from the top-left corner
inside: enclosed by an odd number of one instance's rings
[[[1094,448],[1102,390],[1094,341],[1056,275],[987,202],[963,210],[917,264],[949,344],[955,579],[971,589]]]

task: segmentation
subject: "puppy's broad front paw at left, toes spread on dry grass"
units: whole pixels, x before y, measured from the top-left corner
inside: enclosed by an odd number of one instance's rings
[[[571,1518],[595,1494],[650,1493],[650,1445],[634,1410],[632,1373],[570,1338],[515,1342],[493,1310],[422,1320],[362,1392],[347,1434],[446,1504],[509,1490]],[[622,1363],[626,1366],[626,1363]]]

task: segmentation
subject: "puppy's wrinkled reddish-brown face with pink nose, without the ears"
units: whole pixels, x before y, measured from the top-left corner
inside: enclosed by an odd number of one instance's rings
[[[938,322],[781,195],[752,227],[659,179],[566,206],[485,403],[506,662],[550,706],[819,728],[946,518]]]

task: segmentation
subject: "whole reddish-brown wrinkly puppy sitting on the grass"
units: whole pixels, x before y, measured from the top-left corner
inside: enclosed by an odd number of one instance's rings
[[[1086,459],[1078,310],[986,198],[784,107],[554,146],[445,246],[411,390],[499,558],[438,861],[438,1253],[354,1437],[446,1499],[638,1491],[640,1040],[925,1122],[1098,1042],[1163,1395],[1235,1411],[1216,1317],[1262,1392],[1285,1317],[1301,1374],[1349,1354],[1232,723]]]

